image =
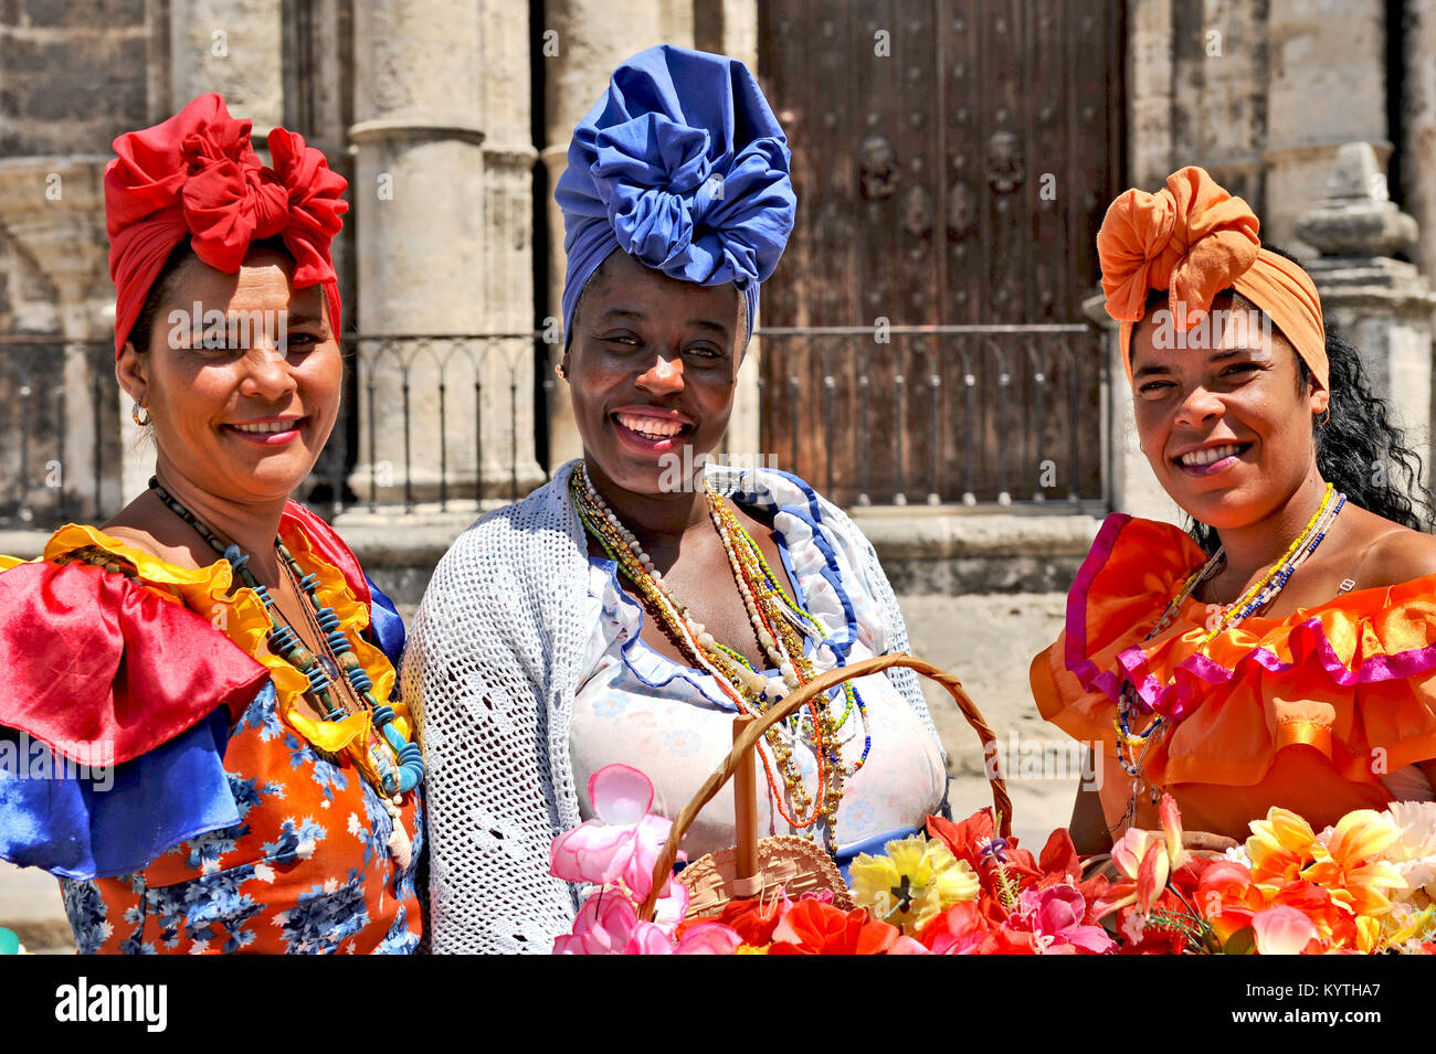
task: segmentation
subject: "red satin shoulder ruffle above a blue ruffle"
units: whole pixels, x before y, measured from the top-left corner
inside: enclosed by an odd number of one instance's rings
[[[243,716],[269,671],[202,617],[90,564],[0,572],[0,726],[76,761],[121,764],[217,707]]]

